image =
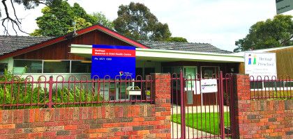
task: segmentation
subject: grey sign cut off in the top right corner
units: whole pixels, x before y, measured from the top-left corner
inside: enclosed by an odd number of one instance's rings
[[[293,10],[293,0],[276,0],[277,14]]]

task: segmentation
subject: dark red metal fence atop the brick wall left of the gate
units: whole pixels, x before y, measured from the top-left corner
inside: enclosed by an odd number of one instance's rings
[[[151,76],[0,76],[0,109],[151,103]]]

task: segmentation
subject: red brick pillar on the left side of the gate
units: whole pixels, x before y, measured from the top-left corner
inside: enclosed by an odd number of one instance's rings
[[[160,73],[151,74],[151,76],[155,116],[156,120],[160,121],[160,125],[156,126],[158,131],[156,138],[171,138],[171,76]]]

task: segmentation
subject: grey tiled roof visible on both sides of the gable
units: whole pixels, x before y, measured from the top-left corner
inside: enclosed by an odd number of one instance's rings
[[[36,36],[16,36],[16,35],[0,35],[0,56],[9,54],[18,49],[24,49],[34,44],[39,44],[52,37],[36,37]],[[190,43],[190,42],[159,42],[159,41],[138,41],[151,49],[177,50],[177,51],[197,51],[210,52],[220,54],[230,54],[231,51],[218,49],[211,44],[206,43]]]

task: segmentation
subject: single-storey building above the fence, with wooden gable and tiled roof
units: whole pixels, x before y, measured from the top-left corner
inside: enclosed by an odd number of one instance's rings
[[[90,76],[92,44],[136,47],[136,74],[142,76],[153,72],[179,74],[180,70],[184,76],[200,74],[202,78],[218,74],[218,71],[239,73],[244,61],[243,56],[211,44],[136,41],[104,26],[94,25],[57,38],[1,35],[0,72],[7,68],[14,74],[36,77]],[[204,104],[204,96],[188,93],[189,105]],[[195,97],[201,97],[202,101],[195,104]],[[216,99],[211,103],[216,103]]]

